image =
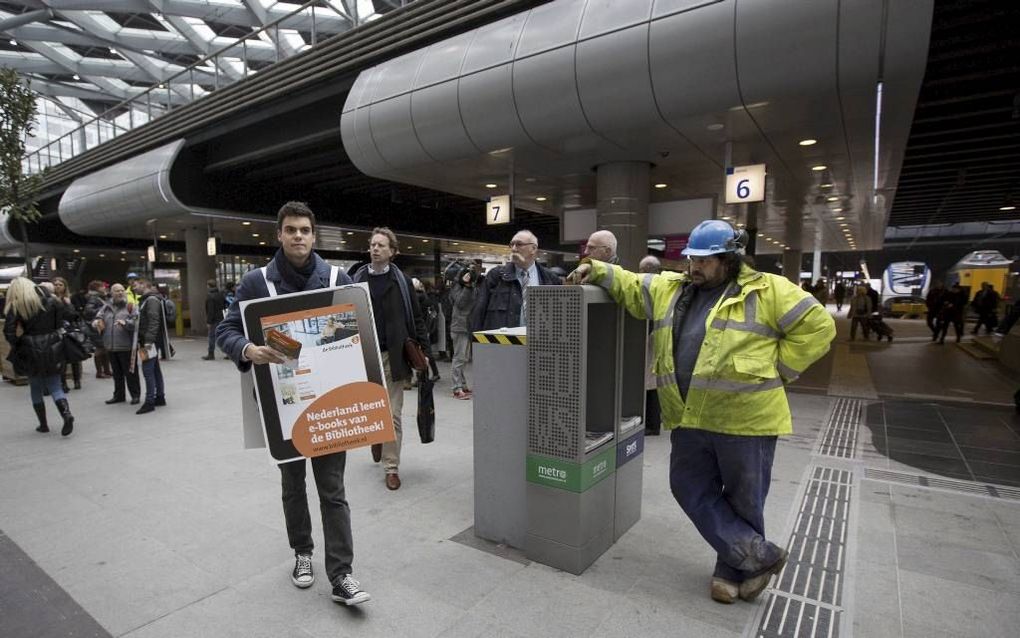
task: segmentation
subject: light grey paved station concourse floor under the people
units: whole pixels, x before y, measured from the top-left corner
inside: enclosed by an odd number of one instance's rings
[[[896,342],[864,347],[870,369],[907,352]],[[203,350],[178,342],[164,364],[169,405],[148,415],[104,405],[111,382],[89,376],[70,394],[78,420],[67,439],[34,432],[28,389],[0,385],[0,531],[111,635],[759,635],[767,596],[734,605],[708,597],[714,556],[669,493],[668,437],[647,441],[641,521],[581,576],[451,540],[472,525],[472,420],[471,402],[450,396],[442,363],[437,441],[421,445],[409,431],[399,491],[386,489],[367,450],[349,455],[354,571],[372,601],[330,602],[320,553],[315,585],[295,589],[278,472],[264,451],[242,449],[235,369],[200,360]],[[817,454],[836,400],[825,382],[789,395],[796,434],[778,446],[766,517],[782,544],[811,469],[828,462]],[[862,425],[858,456],[837,462],[857,477],[837,629],[1015,636],[1020,501],[866,479],[867,468],[937,476],[887,458],[870,436]],[[315,510],[313,501],[320,543]],[[12,565],[21,563],[4,567]],[[0,587],[5,636],[28,609],[10,591]],[[45,618],[37,627],[66,635]],[[795,635],[792,627],[780,635]]]

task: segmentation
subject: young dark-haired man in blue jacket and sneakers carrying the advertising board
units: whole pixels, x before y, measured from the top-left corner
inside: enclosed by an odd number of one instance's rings
[[[350,284],[343,271],[338,271],[336,281],[330,281],[329,264],[322,260],[312,247],[315,245],[315,214],[302,202],[288,202],[276,214],[276,240],[279,250],[265,271],[251,271],[241,280],[237,301],[269,297],[272,295],[318,290]],[[245,337],[241,322],[241,304],[231,306],[226,317],[216,329],[216,343],[238,365],[248,372],[252,364],[283,363],[280,355],[268,346],[257,346]],[[351,576],[354,560],[354,540],[351,535],[351,508],[344,493],[344,468],[347,453],[338,452],[312,458],[312,473],[318,490],[322,512],[322,535],[325,538],[325,569],[333,585],[333,599],[352,605],[371,598],[361,590]],[[295,553],[291,581],[296,587],[311,587],[315,581],[312,573],[312,526],[305,496],[305,459],[282,463],[284,518],[287,536]]]

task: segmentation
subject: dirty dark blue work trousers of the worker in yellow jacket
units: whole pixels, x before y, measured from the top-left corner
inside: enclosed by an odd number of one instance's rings
[[[776,437],[679,428],[670,441],[669,487],[716,551],[713,576],[740,583],[772,566],[780,549],[765,540],[764,513]]]

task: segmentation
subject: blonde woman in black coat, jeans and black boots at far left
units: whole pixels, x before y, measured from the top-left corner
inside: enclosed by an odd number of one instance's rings
[[[43,399],[43,389],[46,388],[63,418],[60,434],[67,436],[74,429],[74,418],[60,387],[64,353],[59,329],[64,320],[73,318],[73,312],[23,277],[15,278],[10,283],[4,310],[3,334],[10,344],[8,359],[17,374],[29,378],[32,406],[39,416],[36,431],[50,431]]]

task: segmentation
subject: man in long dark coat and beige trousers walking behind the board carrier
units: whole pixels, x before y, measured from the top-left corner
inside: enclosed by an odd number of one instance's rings
[[[403,382],[411,378],[411,367],[404,360],[404,342],[410,337],[427,351],[428,331],[425,329],[425,318],[418,298],[414,294],[414,284],[393,262],[399,252],[397,236],[388,228],[377,228],[372,230],[368,241],[371,261],[358,268],[354,274],[354,281],[359,284],[368,283],[372,313],[375,315],[375,336],[379,352],[382,353],[382,373],[387,378],[393,427],[397,433],[397,440],[372,445],[372,460],[382,461],[387,488],[399,490]]]

